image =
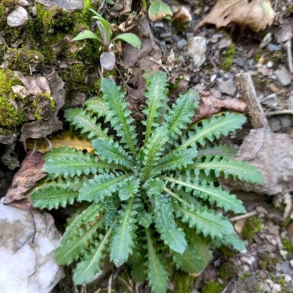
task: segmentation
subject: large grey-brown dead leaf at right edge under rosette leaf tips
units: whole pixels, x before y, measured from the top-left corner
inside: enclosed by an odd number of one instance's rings
[[[293,138],[286,133],[272,133],[265,128],[252,129],[233,156],[257,167],[264,183],[251,185],[239,180],[221,179],[230,189],[274,195],[293,191]]]

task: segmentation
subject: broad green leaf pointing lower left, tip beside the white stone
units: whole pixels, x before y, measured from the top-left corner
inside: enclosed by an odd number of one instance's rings
[[[58,264],[69,265],[84,254],[88,244],[98,236],[97,229],[102,226],[100,213],[103,210],[105,207],[102,204],[92,204],[67,226],[56,251]]]

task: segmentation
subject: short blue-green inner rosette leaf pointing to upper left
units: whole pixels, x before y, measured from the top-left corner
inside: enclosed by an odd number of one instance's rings
[[[115,163],[125,166],[127,169],[133,167],[133,158],[128,155],[124,148],[118,142],[97,138],[92,141],[93,148],[97,155],[100,155],[102,160],[108,163]]]

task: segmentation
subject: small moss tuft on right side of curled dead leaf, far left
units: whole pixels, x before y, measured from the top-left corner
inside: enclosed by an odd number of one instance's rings
[[[47,120],[54,111],[54,99],[49,93],[37,94],[31,98],[34,117],[37,120]]]

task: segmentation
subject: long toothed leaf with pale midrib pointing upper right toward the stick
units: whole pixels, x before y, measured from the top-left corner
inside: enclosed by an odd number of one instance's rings
[[[196,143],[201,145],[206,144],[206,140],[213,142],[214,139],[219,139],[221,135],[228,135],[242,127],[246,122],[246,118],[242,114],[225,113],[223,116],[212,116],[210,119],[201,120],[199,124],[192,125],[188,129],[187,137],[182,138],[182,144],[177,149],[183,149],[188,146],[196,146]]]

